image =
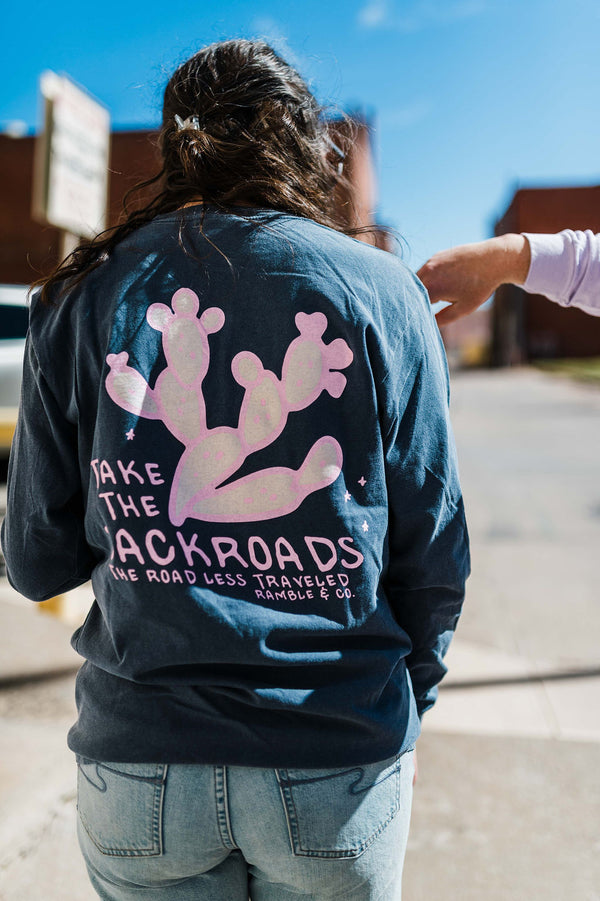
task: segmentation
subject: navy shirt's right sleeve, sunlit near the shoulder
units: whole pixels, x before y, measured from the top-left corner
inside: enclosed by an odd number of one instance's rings
[[[424,291],[396,354],[386,440],[389,566],[385,590],[412,650],[407,658],[419,716],[447,669],[470,571],[469,540],[449,420],[446,356]],[[425,306],[426,305],[426,306]],[[401,376],[400,374],[403,373]]]

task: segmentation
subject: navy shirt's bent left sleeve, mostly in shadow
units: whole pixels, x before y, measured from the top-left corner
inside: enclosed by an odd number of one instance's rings
[[[30,335],[10,454],[2,550],[10,584],[34,601],[83,584],[94,566],[85,540],[76,427],[44,378]]]

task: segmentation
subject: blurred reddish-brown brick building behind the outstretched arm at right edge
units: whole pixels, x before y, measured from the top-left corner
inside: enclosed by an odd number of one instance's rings
[[[600,186],[518,190],[496,224],[508,232],[600,232]],[[600,319],[566,309],[512,285],[496,292],[492,314],[492,363],[510,366],[549,357],[600,355]]]

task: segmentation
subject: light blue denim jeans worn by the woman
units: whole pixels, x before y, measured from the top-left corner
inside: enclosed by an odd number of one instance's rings
[[[104,901],[399,901],[413,752],[336,770],[78,758]]]

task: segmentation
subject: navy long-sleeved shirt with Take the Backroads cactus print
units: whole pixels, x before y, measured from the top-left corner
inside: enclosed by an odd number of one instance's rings
[[[310,220],[157,217],[32,301],[2,542],[33,600],[92,580],[75,752],[411,747],[469,568],[422,286]]]

